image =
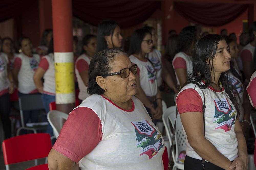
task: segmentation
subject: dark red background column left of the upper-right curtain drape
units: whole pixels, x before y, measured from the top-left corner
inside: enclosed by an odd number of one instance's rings
[[[163,44],[166,43],[169,31],[174,28],[174,0],[161,1],[163,12]]]

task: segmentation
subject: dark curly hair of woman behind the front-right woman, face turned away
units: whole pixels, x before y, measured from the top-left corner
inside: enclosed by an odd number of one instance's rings
[[[179,33],[176,53],[188,50],[191,44],[196,42],[196,34],[197,32],[195,26],[183,28]]]

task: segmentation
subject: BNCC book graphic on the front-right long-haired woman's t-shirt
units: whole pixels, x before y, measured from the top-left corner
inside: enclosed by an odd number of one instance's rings
[[[233,124],[235,124],[236,111],[230,106],[227,98],[214,99],[215,103],[215,115],[216,118],[213,123],[218,123],[218,127],[215,129],[223,129],[225,132],[231,130]]]

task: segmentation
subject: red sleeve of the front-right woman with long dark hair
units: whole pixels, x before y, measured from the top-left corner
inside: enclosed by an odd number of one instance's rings
[[[176,99],[179,114],[185,112],[203,112],[203,102],[200,95],[193,88],[180,92]]]

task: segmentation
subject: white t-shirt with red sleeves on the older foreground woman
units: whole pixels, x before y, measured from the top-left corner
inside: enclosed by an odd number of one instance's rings
[[[163,169],[164,140],[142,102],[124,110],[101,95],[73,109],[53,149],[81,170]]]

